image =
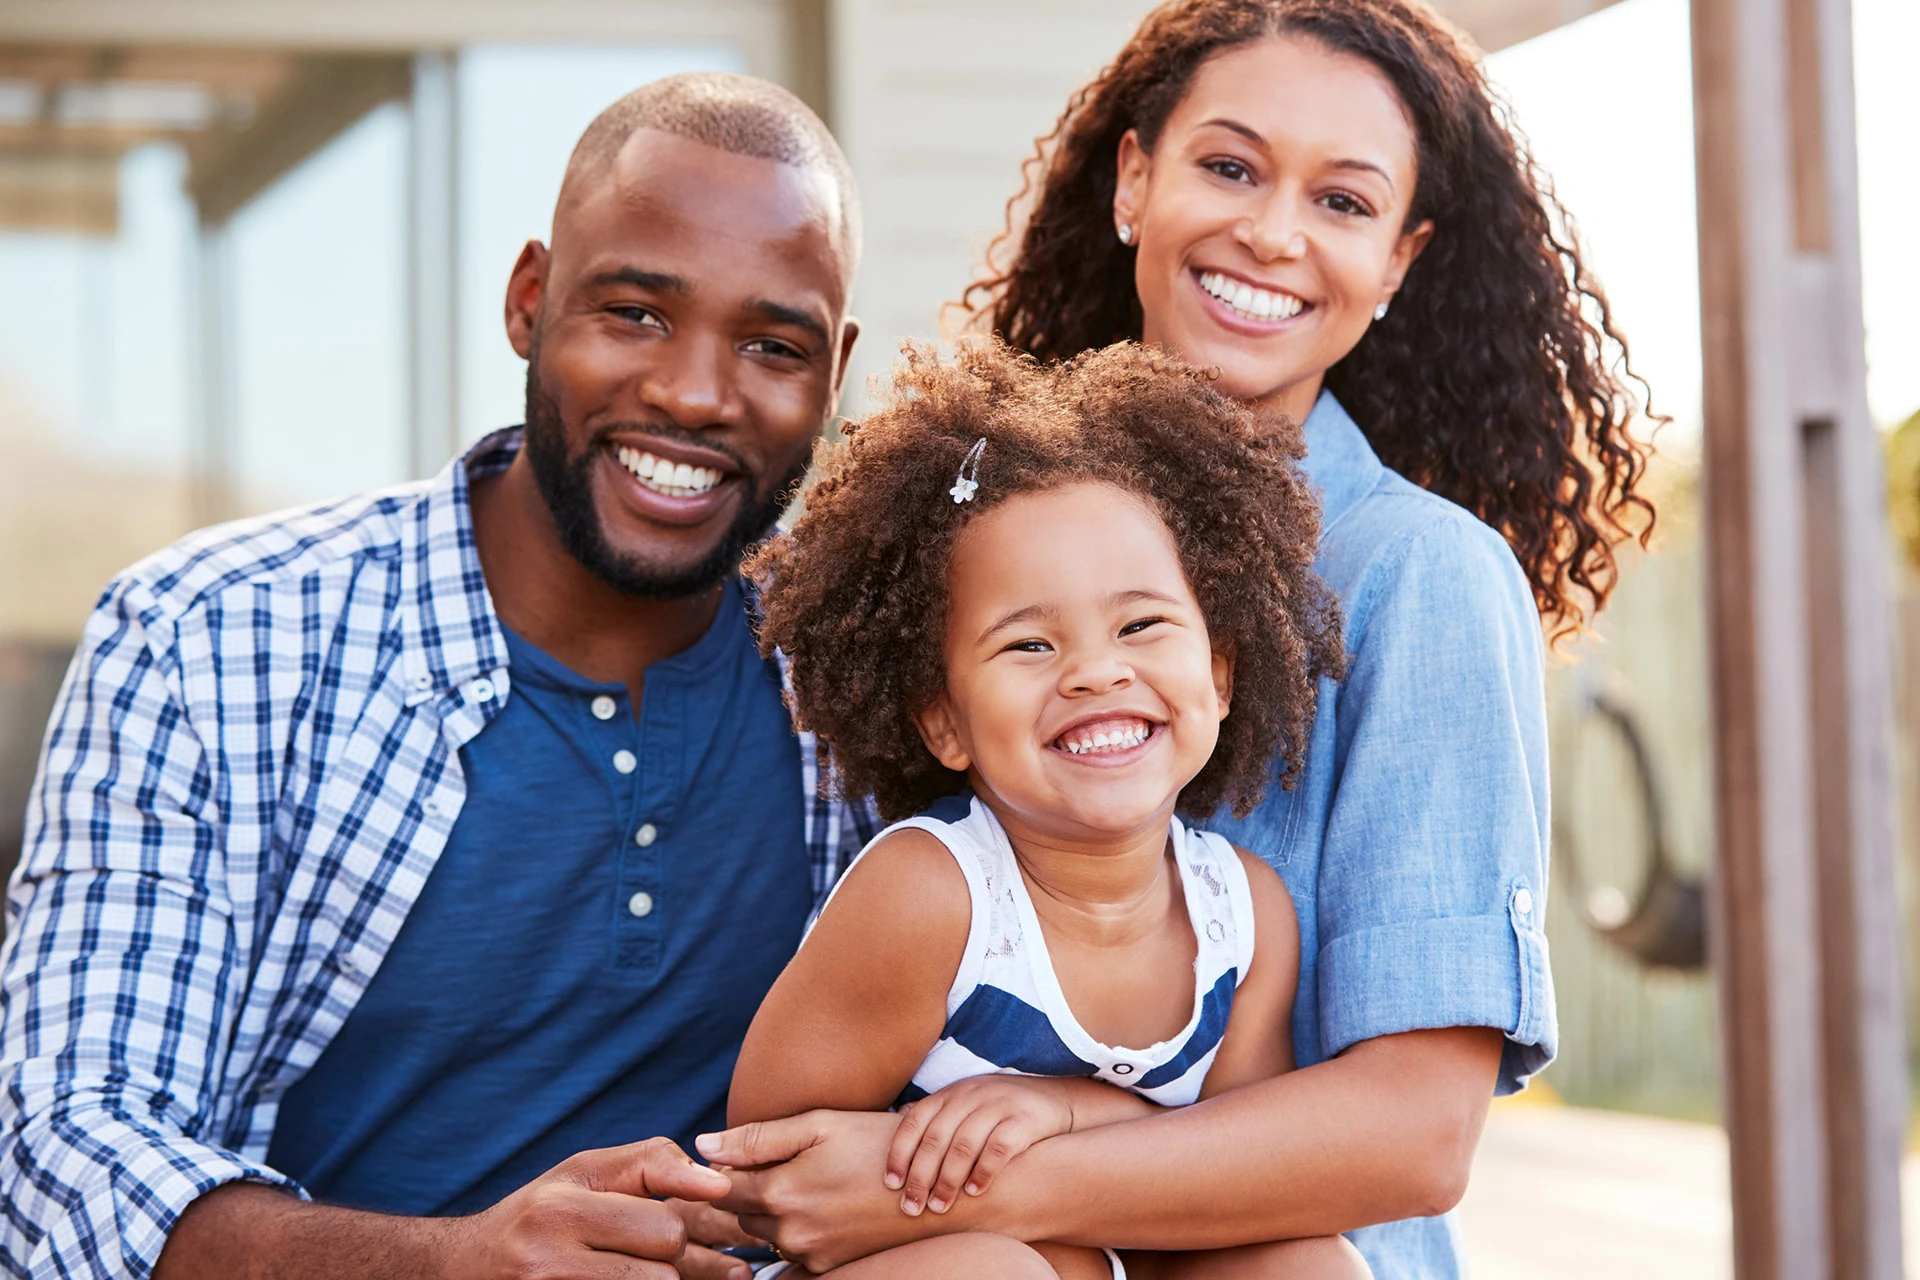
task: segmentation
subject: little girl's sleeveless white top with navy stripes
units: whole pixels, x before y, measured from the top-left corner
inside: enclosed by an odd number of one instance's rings
[[[1173,1038],[1146,1048],[1117,1048],[1087,1034],[1068,1007],[1014,846],[993,812],[975,798],[958,821],[908,818],[881,831],[874,842],[902,827],[918,827],[952,852],[973,898],[973,923],[960,971],[947,992],[947,1027],[900,1102],[995,1073],[1092,1077],[1167,1107],[1200,1098],[1200,1084],[1227,1031],[1233,994],[1254,960],[1254,902],[1233,844],[1173,819],[1173,862],[1200,944],[1194,1009]]]

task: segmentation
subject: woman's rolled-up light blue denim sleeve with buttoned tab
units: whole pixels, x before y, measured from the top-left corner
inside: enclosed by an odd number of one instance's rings
[[[1544,645],[1507,545],[1448,512],[1407,530],[1350,603],[1338,789],[1321,850],[1329,1055],[1498,1027],[1498,1092],[1553,1057]]]

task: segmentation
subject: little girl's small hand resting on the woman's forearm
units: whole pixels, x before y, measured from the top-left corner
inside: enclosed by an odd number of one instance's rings
[[[983,1075],[908,1105],[887,1150],[887,1186],[904,1188],[900,1211],[947,1213],[962,1188],[968,1196],[983,1194],[1006,1161],[1041,1138],[1071,1132],[1068,1084],[1073,1082]]]

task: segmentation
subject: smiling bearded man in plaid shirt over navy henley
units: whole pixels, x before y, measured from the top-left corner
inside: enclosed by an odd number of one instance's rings
[[[720,1126],[866,835],[735,574],[837,403],[856,244],[791,94],[643,88],[507,286],[524,436],[108,587],[10,896],[0,1267],[745,1274],[682,1257],[745,1240],[726,1178],[634,1140]]]

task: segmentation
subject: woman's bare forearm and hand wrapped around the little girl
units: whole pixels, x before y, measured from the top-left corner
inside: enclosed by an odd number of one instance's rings
[[[920,1217],[877,1176],[889,1117],[810,1111],[699,1148],[751,1171],[722,1207],[812,1270],[964,1230],[1131,1249],[1331,1236],[1459,1201],[1501,1042],[1484,1027],[1367,1040],[1190,1107],[1048,1138],[991,1194]]]

